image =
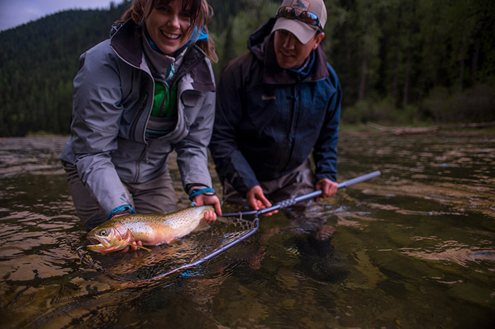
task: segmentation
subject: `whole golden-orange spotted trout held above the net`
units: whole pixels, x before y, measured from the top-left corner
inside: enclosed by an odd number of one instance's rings
[[[88,233],[87,238],[93,244],[87,248],[98,253],[108,253],[122,250],[134,241],[141,241],[145,246],[170,243],[192,231],[198,231],[202,226],[208,228],[203,217],[209,210],[214,211],[214,207],[206,205],[188,207],[169,214],[128,214],[115,217]]]

